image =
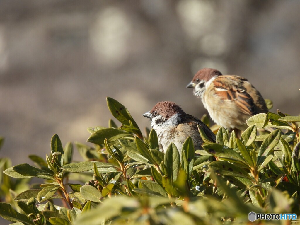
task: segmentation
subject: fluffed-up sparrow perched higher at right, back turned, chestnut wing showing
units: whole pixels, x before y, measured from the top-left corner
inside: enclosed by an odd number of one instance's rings
[[[194,88],[193,94],[201,98],[211,119],[229,131],[243,131],[251,116],[268,113],[262,95],[241,76],[204,68],[196,73],[187,88]]]

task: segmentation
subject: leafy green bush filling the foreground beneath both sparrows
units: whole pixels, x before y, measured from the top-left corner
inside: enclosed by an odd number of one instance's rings
[[[109,128],[88,128],[94,147],[75,143],[85,161],[72,163],[73,144],[63,148],[56,134],[46,160],[29,156],[36,167],[10,167],[1,159],[4,219],[15,225],[221,224],[248,223],[251,211],[300,214],[299,116],[257,114],[240,139],[220,127],[216,143],[199,128],[203,149],[195,151],[189,137],[180,153],[174,144],[163,153],[154,130],[143,137],[122,104],[107,98],[107,105],[122,126],[110,120]],[[29,188],[33,177],[43,182]]]

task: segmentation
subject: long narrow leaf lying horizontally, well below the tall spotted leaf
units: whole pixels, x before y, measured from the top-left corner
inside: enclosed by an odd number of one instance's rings
[[[71,163],[64,165],[61,167],[62,170],[72,172],[72,173],[79,173],[84,171],[89,171],[94,169],[94,164],[96,164],[96,167],[101,172],[117,172],[118,170],[116,167],[109,163],[102,163],[102,162],[96,162],[96,161],[90,161],[90,162],[80,162],[80,163]],[[93,172],[93,171],[91,171]]]

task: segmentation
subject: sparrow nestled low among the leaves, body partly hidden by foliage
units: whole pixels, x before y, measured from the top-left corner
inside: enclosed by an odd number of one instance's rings
[[[174,102],[159,102],[143,116],[150,119],[151,127],[158,135],[161,152],[165,152],[173,142],[180,153],[182,144],[189,136],[193,140],[195,150],[202,149],[203,140],[200,137],[197,125],[201,126],[207,137],[215,142],[216,136],[208,126],[196,117],[184,113],[179,105]]]

